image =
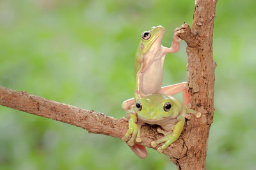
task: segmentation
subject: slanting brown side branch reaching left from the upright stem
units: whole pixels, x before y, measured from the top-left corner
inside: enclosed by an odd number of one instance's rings
[[[17,92],[12,89],[0,87],[0,105],[15,110],[24,111],[40,117],[51,118],[71,125],[76,125],[89,133],[104,134],[121,139],[127,132],[128,122],[122,119],[108,117],[103,113],[95,113],[68,104],[58,103],[43,97]],[[156,128],[150,125],[141,126],[140,145],[151,148],[152,139],[160,139]],[[164,150],[168,157],[180,157],[186,153],[182,139],[173,143],[173,147]]]

